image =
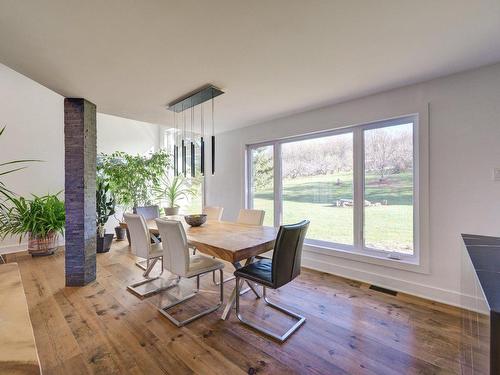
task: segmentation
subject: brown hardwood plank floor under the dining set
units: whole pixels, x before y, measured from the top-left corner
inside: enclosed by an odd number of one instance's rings
[[[164,296],[140,300],[126,286],[141,279],[126,243],[97,254],[97,280],[64,287],[64,254],[9,255],[21,270],[44,374],[441,374],[460,373],[461,310],[306,270],[270,298],[306,316],[305,325],[278,344],[240,325],[222,309],[176,328],[155,307]],[[228,265],[227,269],[230,270]],[[216,290],[211,275],[202,287]],[[226,295],[234,285],[229,282]],[[195,298],[184,314],[215,301]],[[246,315],[282,326],[251,292]]]

